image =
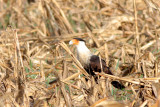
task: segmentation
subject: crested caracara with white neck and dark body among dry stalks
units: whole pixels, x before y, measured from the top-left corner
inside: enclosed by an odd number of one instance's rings
[[[77,48],[77,59],[87,71],[87,73],[95,78],[97,81],[97,75],[95,72],[113,75],[112,71],[108,66],[106,66],[105,60],[101,59],[99,56],[94,55],[86,46],[85,40],[82,38],[73,38],[69,41],[69,45],[75,45]],[[124,85],[118,81],[112,81],[111,84],[118,88],[123,89]]]

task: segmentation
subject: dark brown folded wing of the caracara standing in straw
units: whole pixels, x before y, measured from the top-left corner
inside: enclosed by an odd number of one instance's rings
[[[101,63],[100,63],[100,58],[98,56],[96,55],[91,56],[90,58],[91,70],[95,72],[101,72],[101,64],[102,64],[102,69],[104,73],[113,75],[109,67],[106,66],[106,63],[103,59],[101,59]]]

